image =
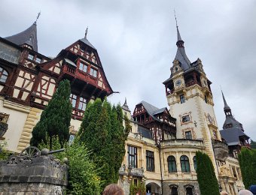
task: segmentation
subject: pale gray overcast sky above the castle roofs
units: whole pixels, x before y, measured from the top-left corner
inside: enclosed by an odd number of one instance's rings
[[[84,37],[96,47],[108,82],[120,94],[112,103],[130,110],[140,101],[168,107],[163,81],[176,53],[173,10],[187,57],[200,58],[209,80],[219,129],[225,115],[221,88],[236,120],[256,140],[256,1],[11,1],[0,6],[0,36],[38,20],[38,51],[56,56]],[[221,88],[220,88],[221,86]]]

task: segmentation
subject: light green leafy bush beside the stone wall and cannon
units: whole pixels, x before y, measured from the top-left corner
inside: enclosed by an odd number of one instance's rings
[[[47,142],[39,144],[39,148],[49,148],[49,137],[46,140]],[[98,176],[99,169],[96,169],[96,164],[90,159],[90,152],[85,145],[78,142],[77,138],[75,138],[72,145],[64,145],[65,151],[53,155],[58,159],[67,157],[69,160],[68,194],[100,194],[101,181]],[[52,150],[58,150],[60,148],[59,137],[53,136]]]

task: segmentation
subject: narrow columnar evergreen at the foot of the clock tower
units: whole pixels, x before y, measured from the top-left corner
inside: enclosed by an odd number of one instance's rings
[[[210,157],[197,151],[197,181],[202,195],[219,194],[218,180]]]

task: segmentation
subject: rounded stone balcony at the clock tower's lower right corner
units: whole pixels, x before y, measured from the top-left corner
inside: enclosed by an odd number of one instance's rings
[[[227,144],[217,139],[212,140],[216,160],[224,161],[228,156]]]

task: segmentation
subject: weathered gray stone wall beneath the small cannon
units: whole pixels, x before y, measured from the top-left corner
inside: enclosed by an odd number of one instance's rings
[[[68,166],[51,155],[11,156],[0,162],[0,194],[63,194]]]

